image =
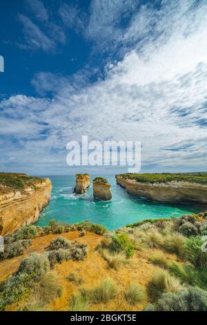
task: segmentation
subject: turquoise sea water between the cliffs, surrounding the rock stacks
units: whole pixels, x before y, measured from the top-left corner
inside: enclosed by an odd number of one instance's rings
[[[104,176],[106,177],[106,176]],[[112,201],[94,201],[92,187],[87,194],[72,194],[75,186],[73,176],[49,176],[52,180],[52,197],[50,204],[43,210],[37,225],[47,225],[50,219],[65,223],[77,223],[89,220],[101,223],[108,230],[113,230],[129,223],[144,219],[166,218],[182,214],[201,212],[199,205],[155,203],[145,198],[127,194],[116,184],[115,176],[107,179],[112,185]]]

